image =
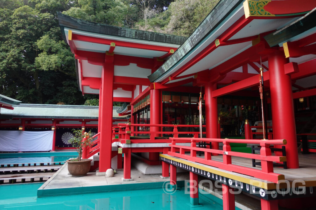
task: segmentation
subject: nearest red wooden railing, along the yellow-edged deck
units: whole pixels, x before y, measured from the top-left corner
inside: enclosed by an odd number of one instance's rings
[[[285,145],[285,139],[279,140],[259,140],[259,139],[199,139],[199,138],[170,138],[172,143],[171,151],[168,155],[183,158],[192,162],[198,162],[205,165],[217,167],[223,170],[245,174],[253,176],[258,179],[268,180],[274,183],[278,183],[279,180],[284,179],[284,175],[273,173],[272,162],[286,161],[285,156],[272,156],[270,145]],[[223,150],[200,148],[196,146],[197,142],[201,140],[211,142],[222,142]],[[176,145],[177,143],[191,143],[190,146]],[[249,154],[243,152],[231,151],[230,143],[247,143],[247,144],[259,144],[261,146],[260,154]],[[203,151],[204,157],[197,156],[197,151]],[[190,154],[185,154],[190,152]],[[211,153],[223,155],[222,162],[211,159]],[[249,159],[261,160],[261,170],[249,167],[243,167],[232,164],[232,156],[244,157]]]

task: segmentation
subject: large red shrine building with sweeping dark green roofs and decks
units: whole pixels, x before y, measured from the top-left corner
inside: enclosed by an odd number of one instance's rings
[[[260,198],[262,209],[308,205],[299,199],[313,196],[316,165],[304,161],[315,156],[299,154],[297,134],[313,120],[316,108],[315,7],[313,0],[221,0],[188,38],[58,14],[64,41],[75,55],[80,90],[100,97],[99,172],[111,167],[115,144],[118,153],[124,153],[125,179],[131,179],[133,153],[142,153],[138,159],[155,165],[160,152],[162,176],[169,176],[170,166],[172,185],[177,167],[190,171],[191,180],[200,175],[220,181],[225,209],[235,208],[232,188]],[[240,115],[252,118],[251,125],[260,121],[260,67],[271,122],[269,139],[252,139],[248,121],[244,132],[239,132],[241,122],[230,128],[230,133],[245,133],[246,139],[221,139],[228,129],[225,122],[234,114],[238,121],[243,121]],[[200,92],[203,139],[196,125]],[[113,101],[130,103],[131,124],[112,127]],[[257,118],[250,115],[255,111]],[[308,120],[300,120],[304,123],[298,126],[295,117]],[[303,132],[311,133],[314,128]],[[201,141],[208,145],[200,147]],[[234,151],[234,143],[260,145],[260,154]],[[283,154],[277,150],[282,145]],[[197,156],[201,152],[204,155]],[[252,167],[250,159],[259,160],[261,167]],[[274,167],[273,162],[285,161],[288,169]],[[295,185],[298,178],[305,183],[303,193],[280,185],[283,179]],[[190,197],[191,204],[198,204],[196,192]]]

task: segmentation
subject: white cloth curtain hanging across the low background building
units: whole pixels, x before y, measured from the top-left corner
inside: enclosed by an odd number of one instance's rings
[[[0,151],[52,150],[54,131],[0,131]]]

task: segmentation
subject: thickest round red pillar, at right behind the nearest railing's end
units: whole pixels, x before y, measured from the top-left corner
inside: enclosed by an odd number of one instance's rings
[[[291,77],[284,73],[288,62],[284,53],[278,51],[268,57],[272,126],[274,139],[286,139],[285,145],[288,168],[298,168],[298,151],[294,118]],[[281,146],[278,145],[280,148]]]

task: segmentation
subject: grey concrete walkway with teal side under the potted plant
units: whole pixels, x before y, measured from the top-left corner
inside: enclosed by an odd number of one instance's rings
[[[87,176],[72,177],[68,173],[68,164],[65,163],[50,179],[48,179],[37,191],[38,197],[53,195],[69,195],[108,190],[143,189],[148,187],[162,187],[169,178],[161,178],[160,174],[144,175],[136,168],[131,168],[133,181],[122,181],[123,169],[119,169],[114,177],[96,176],[95,172],[89,172]],[[188,173],[177,174],[178,180],[189,179]],[[135,185],[137,184],[137,185]]]

